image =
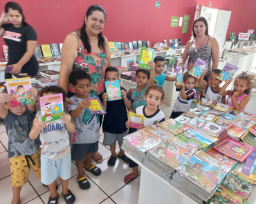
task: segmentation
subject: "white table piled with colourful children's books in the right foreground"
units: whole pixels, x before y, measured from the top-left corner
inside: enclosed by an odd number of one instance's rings
[[[141,166],[138,203],[256,204],[255,136],[255,114],[208,99],[125,136]]]

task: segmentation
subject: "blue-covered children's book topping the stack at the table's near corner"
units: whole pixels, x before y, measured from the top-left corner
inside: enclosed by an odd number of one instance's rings
[[[208,193],[217,188],[229,171],[230,167],[201,150],[179,167],[179,172],[184,174],[186,179],[190,179]]]

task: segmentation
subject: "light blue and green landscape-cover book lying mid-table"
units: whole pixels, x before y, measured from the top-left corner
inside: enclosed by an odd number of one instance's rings
[[[196,134],[196,132],[194,132],[193,130],[194,129],[187,130],[182,134],[176,135],[176,137],[179,138],[184,143],[192,145],[193,147],[196,147],[199,150],[217,141],[217,139],[214,139],[212,136],[208,134],[204,134],[203,132],[201,132],[200,134]]]

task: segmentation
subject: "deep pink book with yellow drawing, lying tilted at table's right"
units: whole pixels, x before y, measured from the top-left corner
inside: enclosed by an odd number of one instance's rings
[[[229,137],[215,145],[214,149],[241,162],[244,162],[255,150],[253,147],[234,141]]]

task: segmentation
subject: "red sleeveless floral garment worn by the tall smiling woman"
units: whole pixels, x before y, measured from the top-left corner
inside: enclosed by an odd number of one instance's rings
[[[88,53],[87,50],[84,49],[84,45],[82,45],[82,43],[80,43],[80,41],[78,40],[77,36],[75,34],[73,35],[76,37],[79,44],[79,48],[77,49],[77,58],[75,59],[75,62],[73,64],[73,70],[83,69],[91,75],[90,94],[98,96],[105,90],[104,78],[105,70],[107,68],[107,45],[105,47],[105,51],[98,53]],[[74,90],[70,91],[74,92]]]

